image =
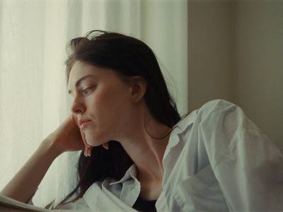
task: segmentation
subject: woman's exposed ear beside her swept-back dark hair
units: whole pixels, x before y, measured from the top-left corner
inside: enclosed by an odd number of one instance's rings
[[[132,102],[139,102],[146,93],[146,81],[141,76],[132,77],[131,97]]]

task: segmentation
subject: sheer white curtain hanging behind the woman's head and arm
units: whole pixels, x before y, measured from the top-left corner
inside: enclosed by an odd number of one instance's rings
[[[0,0],[0,189],[69,114],[65,46],[93,29],[144,40],[187,112],[186,0]],[[54,161],[36,205],[70,191],[78,155]]]

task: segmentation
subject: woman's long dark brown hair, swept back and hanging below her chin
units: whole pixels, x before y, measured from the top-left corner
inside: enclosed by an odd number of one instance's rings
[[[85,37],[74,38],[67,47],[71,50],[66,61],[67,79],[75,61],[112,69],[122,77],[141,76],[146,81],[144,100],[151,115],[170,128],[180,120],[154,52],[141,40],[93,30]],[[117,141],[109,142],[108,151],[102,146],[93,147],[91,157],[86,158],[81,153],[79,182],[56,208],[81,198],[93,182],[107,177],[119,180],[132,164],[132,159]]]

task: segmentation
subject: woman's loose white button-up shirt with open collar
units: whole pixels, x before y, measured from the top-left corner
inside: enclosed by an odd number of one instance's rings
[[[283,156],[240,107],[207,102],[171,132],[157,211],[283,211]],[[136,167],[94,183],[62,209],[135,211]]]

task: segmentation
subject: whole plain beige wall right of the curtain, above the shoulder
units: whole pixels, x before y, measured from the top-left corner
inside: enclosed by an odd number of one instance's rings
[[[283,1],[189,1],[189,110],[223,98],[283,151]]]

